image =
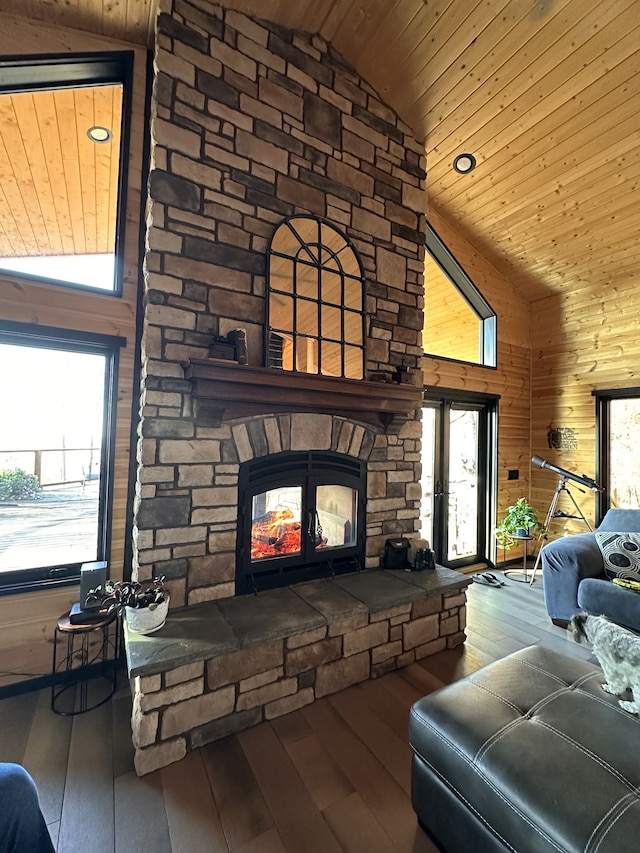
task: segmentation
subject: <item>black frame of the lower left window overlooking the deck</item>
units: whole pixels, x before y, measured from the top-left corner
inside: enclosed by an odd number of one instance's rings
[[[38,326],[32,323],[0,320],[0,343],[40,349],[58,349],[105,357],[96,560],[108,560],[111,549],[113,515],[119,354],[120,349],[126,346],[126,340],[116,335],[102,335],[93,332],[59,329],[53,326]],[[46,568],[14,569],[0,572],[0,596],[78,584],[81,565],[81,563],[72,563]]]

